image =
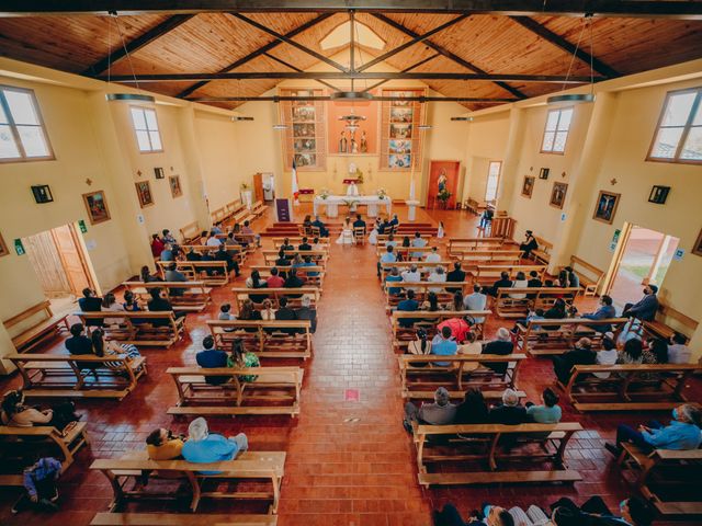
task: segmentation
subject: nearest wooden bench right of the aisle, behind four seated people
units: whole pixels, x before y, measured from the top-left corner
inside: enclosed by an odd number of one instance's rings
[[[582,426],[577,422],[558,424],[468,424],[468,425],[417,425],[415,426],[415,445],[417,447],[417,465],[419,483],[430,485],[453,484],[490,484],[498,482],[575,482],[581,480],[580,474],[566,467],[564,454],[568,441]],[[514,446],[540,444],[541,450],[528,450],[514,447],[503,451],[499,447],[500,439],[509,437]],[[448,451],[450,449],[450,451]],[[544,470],[509,470],[502,462],[518,460],[545,461],[552,469]],[[488,470],[464,470],[461,472],[432,472],[427,465],[439,462],[480,462]],[[543,469],[543,468],[542,468]]]

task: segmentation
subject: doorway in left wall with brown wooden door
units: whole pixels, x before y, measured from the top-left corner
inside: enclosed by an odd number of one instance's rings
[[[45,230],[22,239],[52,310],[63,311],[86,287],[95,288],[75,225]]]

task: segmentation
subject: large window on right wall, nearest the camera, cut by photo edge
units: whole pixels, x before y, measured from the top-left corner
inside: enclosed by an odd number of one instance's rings
[[[702,88],[668,93],[648,160],[702,163]]]

